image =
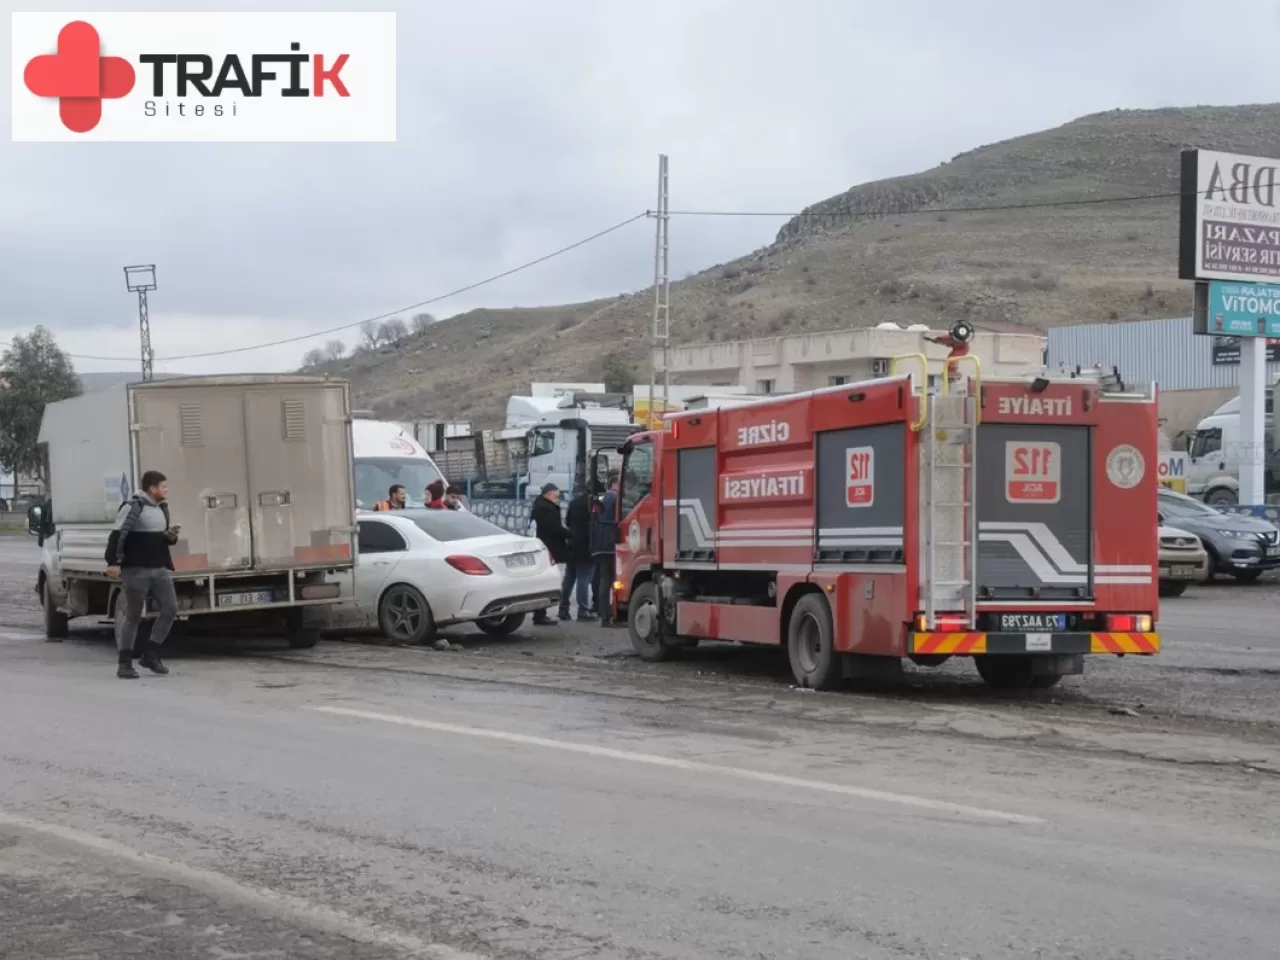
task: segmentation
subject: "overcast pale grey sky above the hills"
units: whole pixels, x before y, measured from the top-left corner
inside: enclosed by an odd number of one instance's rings
[[[156,262],[159,370],[284,370],[325,338],[163,361],[355,324],[541,256],[653,206],[659,152],[675,209],[799,210],[1083,114],[1280,99],[1257,55],[1265,42],[1211,40],[1274,36],[1271,0],[375,6],[399,14],[397,143],[42,145],[5,133],[0,342],[45,324],[72,353],[136,357],[120,268]],[[8,18],[0,31],[8,51]],[[5,91],[5,131],[9,101]],[[677,219],[672,275],[768,243],[781,224]],[[652,273],[641,221],[430,310],[586,300],[643,288]]]

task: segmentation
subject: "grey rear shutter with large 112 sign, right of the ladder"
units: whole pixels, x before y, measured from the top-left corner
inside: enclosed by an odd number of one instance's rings
[[[1093,595],[1092,428],[978,428],[978,602]]]

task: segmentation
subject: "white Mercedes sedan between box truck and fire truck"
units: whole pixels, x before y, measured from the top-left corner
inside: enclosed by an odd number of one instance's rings
[[[506,636],[532,611],[559,603],[561,571],[538,540],[474,513],[360,513],[355,613],[401,644],[438,627],[475,623]]]

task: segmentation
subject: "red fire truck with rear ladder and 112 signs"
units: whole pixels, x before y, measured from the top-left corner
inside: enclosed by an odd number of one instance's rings
[[[614,591],[636,652],[785,644],[819,690],[904,658],[1024,689],[1158,653],[1155,388],[983,379],[972,356],[936,380],[913,355],[635,434]]]

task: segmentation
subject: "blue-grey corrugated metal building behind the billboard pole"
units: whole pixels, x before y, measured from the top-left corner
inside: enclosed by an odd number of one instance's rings
[[[1128,383],[1160,384],[1160,415],[1169,435],[1196,426],[1239,393],[1239,347],[1231,337],[1202,337],[1192,317],[1121,320],[1056,326],[1048,332],[1050,366],[1120,367]],[[1280,349],[1268,349],[1267,380],[1280,376]]]

